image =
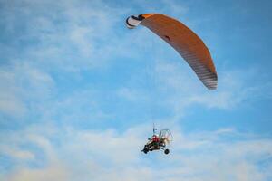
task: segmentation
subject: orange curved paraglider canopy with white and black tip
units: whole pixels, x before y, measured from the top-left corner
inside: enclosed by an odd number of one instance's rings
[[[126,24],[130,29],[139,24],[149,28],[180,53],[209,90],[217,89],[218,75],[209,49],[186,25],[163,14],[132,15],[127,18]]]

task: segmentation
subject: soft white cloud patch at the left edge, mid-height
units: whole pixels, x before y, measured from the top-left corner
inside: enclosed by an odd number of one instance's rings
[[[54,81],[51,76],[29,62],[11,62],[0,72],[0,111],[5,115],[24,117],[32,100],[39,102],[52,95]]]

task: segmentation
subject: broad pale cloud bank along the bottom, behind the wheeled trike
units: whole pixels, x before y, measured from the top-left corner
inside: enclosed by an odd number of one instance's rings
[[[272,141],[223,128],[183,133],[173,131],[170,155],[140,152],[149,126],[140,125],[118,133],[33,126],[8,134],[16,144],[31,142],[45,153],[43,167],[25,162],[6,173],[3,180],[268,180]],[[22,137],[23,136],[23,137]],[[231,139],[226,138],[231,137]],[[17,142],[19,141],[19,142]],[[40,151],[41,151],[40,150]],[[40,154],[31,148],[26,151]],[[10,154],[10,157],[15,157]],[[38,157],[29,158],[32,163]],[[267,162],[268,161],[268,162]],[[262,167],[262,162],[267,167]],[[135,177],[136,176],[136,177]]]

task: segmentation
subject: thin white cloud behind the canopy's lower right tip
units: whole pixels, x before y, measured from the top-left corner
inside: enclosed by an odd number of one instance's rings
[[[202,105],[206,108],[234,110],[238,106],[254,100],[269,99],[269,95],[262,92],[270,87],[270,83],[263,84],[254,81],[260,77],[257,67],[247,70],[219,71],[218,90],[207,90],[199,81],[195,73],[180,57],[174,61],[158,59],[154,68],[157,89],[169,92],[166,101],[173,108],[177,118],[183,115],[184,109],[191,105]],[[262,74],[264,76],[264,74]],[[248,80],[252,83],[248,83]]]

